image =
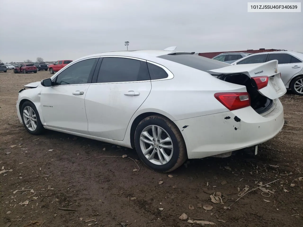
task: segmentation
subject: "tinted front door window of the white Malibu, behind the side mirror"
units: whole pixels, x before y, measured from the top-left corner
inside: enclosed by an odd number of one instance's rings
[[[95,70],[98,58],[79,61],[63,70],[56,78],[55,85],[87,84],[88,77]]]

